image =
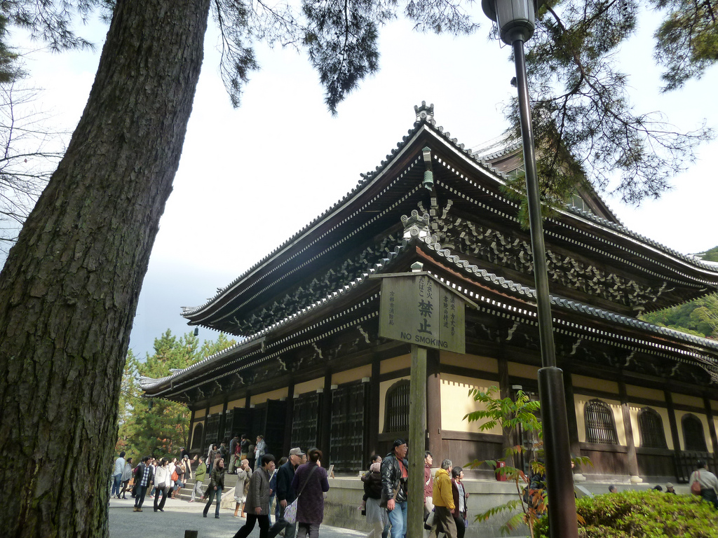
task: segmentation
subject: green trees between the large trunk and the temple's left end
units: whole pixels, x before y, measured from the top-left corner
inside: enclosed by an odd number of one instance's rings
[[[154,354],[147,354],[144,362],[139,362],[130,350],[121,384],[116,449],[135,458],[150,454],[177,456],[189,440],[190,411],[177,402],[142,397],[138,379],[165,377],[233,343],[220,333],[215,341],[205,340],[200,345],[200,339],[191,332],[178,338],[167,329],[154,339]]]

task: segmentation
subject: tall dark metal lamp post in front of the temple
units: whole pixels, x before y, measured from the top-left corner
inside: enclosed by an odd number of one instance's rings
[[[482,0],[481,7],[489,19],[498,24],[500,38],[513,47],[516,62],[518,106],[523,141],[523,163],[526,166],[526,199],[531,227],[533,274],[536,279],[538,334],[541,339],[541,366],[538,370],[538,394],[544,425],[546,487],[549,491],[549,533],[551,538],[577,538],[576,500],[571,471],[569,425],[566,414],[564,378],[556,367],[556,349],[549,301],[549,276],[546,273],[544,226],[541,222],[541,200],[536,176],[536,152],[533,147],[531,107],[523,43],[533,35],[538,4],[533,0]]]

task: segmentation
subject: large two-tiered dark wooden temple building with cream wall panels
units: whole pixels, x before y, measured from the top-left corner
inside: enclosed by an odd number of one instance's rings
[[[434,462],[497,458],[517,439],[530,442],[464,420],[475,409],[471,387],[538,397],[531,240],[505,194],[521,159],[520,143],[470,151],[437,126],[433,105],[416,107],[413,128],[375,171],[210,301],[182,311],[190,325],[240,343],[144,379],[146,396],[190,407],[194,451],[232,433],[264,434],[277,456],[321,448],[337,476],[356,476],[372,453],[406,437],[417,403]],[[572,453],[593,463],[580,472],[681,483],[699,458],[716,471],[718,341],[638,316],[715,293],[718,265],[626,229],[590,187],[544,230]],[[429,350],[426,402],[409,401],[409,344],[378,336],[381,278],[372,278],[416,263],[476,306],[465,311],[465,354]]]

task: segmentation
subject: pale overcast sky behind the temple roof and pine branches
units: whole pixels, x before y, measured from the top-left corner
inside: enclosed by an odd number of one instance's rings
[[[480,9],[480,3],[475,3]],[[483,16],[480,16],[484,20]],[[434,103],[437,124],[480,146],[505,128],[503,104],[514,95],[510,49],[488,42],[487,24],[470,37],[416,34],[398,21],[381,30],[381,72],[365,80],[332,117],[318,77],[303,54],[256,47],[261,71],[251,74],[233,109],[218,75],[216,33],[208,32],[195,105],[174,192],[167,202],[144,280],[130,346],[144,357],[166,329],[192,328],[181,306],[198,306],[228,285],[355,187],[396,148],[414,123],[414,105]],[[718,70],[677,93],[660,95],[652,57],[654,14],[621,53],[635,107],[661,111],[682,129],[707,121],[718,128]],[[32,83],[45,88],[37,106],[72,130],[87,100],[103,40],[100,25],[85,34],[96,52],[33,53]],[[531,43],[527,44],[530,47]],[[639,208],[606,198],[629,228],[696,253],[718,245],[714,171],[718,142],[676,177],[675,188]],[[200,338],[217,333],[200,329]]]

